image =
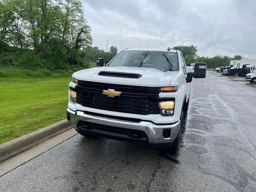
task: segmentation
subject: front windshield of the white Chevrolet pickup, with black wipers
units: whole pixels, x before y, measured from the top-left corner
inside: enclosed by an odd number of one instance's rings
[[[145,56],[146,55],[146,56]],[[172,70],[178,70],[178,56],[174,52],[162,51],[122,51],[108,64],[108,66],[144,67],[168,70],[168,60],[172,64]],[[144,59],[143,59],[144,58]],[[142,61],[143,59],[143,61]],[[141,64],[141,65],[140,65]]]

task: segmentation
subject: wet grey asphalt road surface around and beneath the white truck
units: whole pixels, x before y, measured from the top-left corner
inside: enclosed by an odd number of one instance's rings
[[[256,91],[193,79],[179,155],[75,135],[0,177],[15,191],[256,191]]]

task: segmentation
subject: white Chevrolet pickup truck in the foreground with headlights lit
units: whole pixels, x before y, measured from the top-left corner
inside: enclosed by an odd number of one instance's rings
[[[72,75],[66,117],[76,131],[177,153],[190,82],[206,77],[206,64],[188,72],[178,50],[125,49],[103,65]]]

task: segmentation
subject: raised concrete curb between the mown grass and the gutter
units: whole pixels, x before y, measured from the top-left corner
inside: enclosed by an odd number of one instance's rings
[[[0,162],[70,129],[67,120],[54,123],[0,145]]]

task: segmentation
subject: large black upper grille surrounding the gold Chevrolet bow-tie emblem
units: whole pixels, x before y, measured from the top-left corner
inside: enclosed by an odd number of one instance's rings
[[[76,102],[85,107],[132,114],[159,114],[157,87],[128,86],[78,80]],[[114,89],[120,96],[109,97],[103,90]]]

